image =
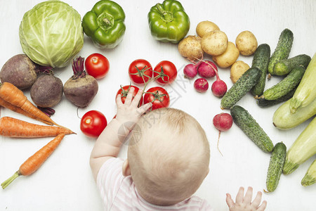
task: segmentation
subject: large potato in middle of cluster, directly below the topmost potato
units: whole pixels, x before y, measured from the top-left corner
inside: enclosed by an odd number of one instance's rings
[[[218,56],[225,52],[228,46],[228,37],[222,31],[212,31],[202,37],[202,49],[211,56]]]

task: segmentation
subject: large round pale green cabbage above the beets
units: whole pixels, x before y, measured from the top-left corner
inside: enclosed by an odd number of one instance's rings
[[[27,11],[20,24],[22,51],[34,63],[68,65],[84,45],[79,13],[65,2],[44,1]]]

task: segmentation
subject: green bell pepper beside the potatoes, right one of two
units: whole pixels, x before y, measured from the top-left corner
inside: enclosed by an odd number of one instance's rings
[[[179,1],[165,0],[150,8],[148,23],[154,39],[177,44],[190,30],[190,19]]]

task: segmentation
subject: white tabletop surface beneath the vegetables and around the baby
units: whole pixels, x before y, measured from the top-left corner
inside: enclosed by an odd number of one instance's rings
[[[1,0],[0,7],[0,65],[15,54],[22,53],[18,29],[22,16],[40,0]],[[90,11],[96,1],[65,0],[81,15]],[[235,194],[239,186],[253,186],[254,191],[263,191],[268,170],[270,154],[263,153],[235,124],[220,137],[220,150],[216,149],[218,131],[213,127],[213,116],[223,112],[220,110],[220,99],[213,96],[211,89],[205,94],[197,93],[193,81],[183,83],[183,66],[188,62],[180,56],[175,44],[163,44],[155,41],[147,24],[147,13],[150,7],[159,1],[122,1],[117,3],[126,13],[126,33],[124,40],[112,50],[96,49],[85,36],[84,47],[79,53],[87,57],[91,53],[103,53],[110,60],[110,72],[104,79],[98,80],[99,91],[88,108],[79,109],[81,117],[88,110],[99,110],[110,121],[116,113],[114,96],[119,85],[129,84],[127,70],[129,64],[144,58],[157,65],[161,60],[171,60],[178,68],[178,79],[171,87],[166,87],[173,99],[172,107],[185,110],[194,116],[205,129],[211,145],[210,172],[196,195],[206,198],[216,210],[228,210],[225,203],[225,193]],[[185,11],[190,16],[191,27],[188,34],[195,34],[197,23],[211,20],[228,39],[235,43],[239,32],[250,30],[256,35],[258,44],[267,43],[273,52],[277,45],[279,34],[284,28],[294,32],[294,44],[289,57],[301,53],[312,56],[316,49],[316,1],[182,1]],[[205,59],[211,59],[209,56]],[[252,56],[239,56],[251,65]],[[228,87],[230,68],[219,69],[221,79]],[[55,70],[55,75],[66,82],[72,75],[72,68]],[[274,77],[267,81],[266,87],[272,87],[280,78]],[[215,79],[209,79],[211,83]],[[150,87],[157,86],[156,83]],[[29,91],[25,91],[29,97]],[[272,125],[272,115],[278,106],[259,108],[247,94],[237,103],[243,106],[257,120],[273,143],[283,141],[289,148],[297,136],[307,126],[307,122],[294,129],[280,131]],[[0,210],[103,210],[102,201],[98,195],[88,165],[89,155],[96,139],[91,139],[81,133],[80,119],[77,108],[66,100],[55,106],[53,120],[69,127],[77,135],[65,136],[60,146],[44,165],[29,177],[19,177],[5,190],[0,190]],[[229,110],[225,110],[229,113]],[[34,122],[27,117],[1,108],[1,116],[18,117],[21,120]],[[38,123],[38,122],[37,122]],[[18,170],[22,162],[44,146],[52,138],[41,139],[10,139],[0,137],[0,182]],[[126,148],[120,156],[126,158]],[[268,200],[267,210],[315,210],[316,184],[309,187],[301,186],[305,175],[315,155],[301,165],[290,175],[281,176],[279,186],[274,193],[263,194]]]

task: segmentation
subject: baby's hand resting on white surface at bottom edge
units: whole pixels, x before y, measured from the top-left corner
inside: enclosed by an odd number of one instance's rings
[[[262,193],[259,191],[256,195],[256,198],[251,203],[252,198],[252,188],[249,187],[244,196],[244,188],[240,187],[236,196],[236,203],[232,200],[232,196],[229,193],[226,193],[226,203],[230,208],[230,211],[263,211],[267,206],[267,201],[261,203]],[[261,205],[260,205],[261,203]],[[260,205],[260,206],[259,206]]]

